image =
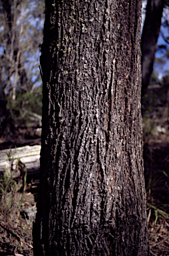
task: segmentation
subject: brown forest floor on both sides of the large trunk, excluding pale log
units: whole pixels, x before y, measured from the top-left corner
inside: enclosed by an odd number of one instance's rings
[[[31,129],[23,129],[12,137],[0,139],[0,149],[36,145],[39,135]],[[169,255],[169,133],[158,133],[144,139],[144,173],[146,181],[148,230],[150,255]],[[19,190],[10,180],[11,189],[5,180],[0,181],[0,255],[33,256],[33,219],[27,211],[35,214],[37,184],[27,181],[25,190]],[[6,182],[7,183],[7,182]],[[15,183],[15,182],[14,182]],[[9,190],[9,192],[7,191]],[[6,194],[5,194],[6,193]],[[22,198],[23,197],[23,198]],[[6,254],[2,254],[7,252]]]

